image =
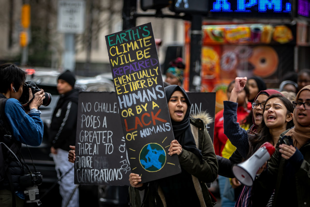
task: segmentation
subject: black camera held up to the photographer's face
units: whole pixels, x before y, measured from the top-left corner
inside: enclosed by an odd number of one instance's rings
[[[32,81],[26,81],[24,86],[23,86],[23,93],[19,99],[21,105],[26,105],[29,104],[32,100],[29,100],[29,88],[31,88],[31,91],[32,91],[32,94],[33,94],[33,97],[34,97],[34,94],[36,92],[39,92],[41,89],[38,88],[38,86],[32,82]],[[43,99],[43,106],[48,106],[50,105],[51,103],[51,94],[50,93],[47,93],[47,92],[44,92],[45,93],[45,99]],[[29,106],[28,106],[29,107]]]

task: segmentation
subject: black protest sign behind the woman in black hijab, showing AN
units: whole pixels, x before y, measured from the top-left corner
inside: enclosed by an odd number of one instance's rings
[[[189,100],[191,101],[191,114],[199,114],[206,111],[210,118],[215,117],[215,92],[188,92]],[[206,123],[205,123],[206,124]],[[214,121],[206,125],[208,133],[213,141]]]

